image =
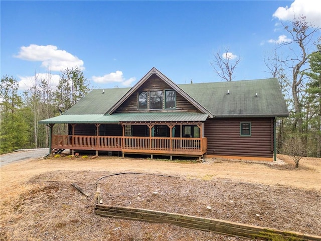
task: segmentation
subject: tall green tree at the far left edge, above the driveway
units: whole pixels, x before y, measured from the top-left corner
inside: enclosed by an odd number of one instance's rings
[[[26,108],[18,94],[18,81],[3,76],[0,84],[0,154],[28,147],[28,125],[26,124]]]

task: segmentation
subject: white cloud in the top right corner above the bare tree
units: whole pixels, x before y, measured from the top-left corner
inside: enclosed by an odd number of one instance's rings
[[[305,16],[306,21],[321,27],[321,1],[319,0],[294,0],[290,7],[279,7],[273,14],[279,20],[292,21],[293,17]]]

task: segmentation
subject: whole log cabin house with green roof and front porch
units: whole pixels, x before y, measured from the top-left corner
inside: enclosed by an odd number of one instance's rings
[[[118,151],[200,159],[275,160],[276,117],[288,111],[278,80],[175,84],[152,68],[132,88],[94,89],[40,121],[50,150]],[[52,135],[55,124],[69,135]]]

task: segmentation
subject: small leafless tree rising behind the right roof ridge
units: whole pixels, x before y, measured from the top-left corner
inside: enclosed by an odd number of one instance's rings
[[[223,54],[221,54],[219,50],[217,53],[214,53],[213,56],[211,65],[216,74],[226,81],[232,81],[234,78],[233,72],[240,62],[240,57],[229,52],[229,48],[225,48]]]

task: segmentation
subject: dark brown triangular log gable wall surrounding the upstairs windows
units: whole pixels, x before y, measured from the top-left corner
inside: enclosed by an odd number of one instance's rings
[[[141,111],[149,111],[149,110],[138,110],[137,109],[137,93],[144,90],[164,90],[164,89],[172,89],[167,83],[165,83],[162,79],[160,79],[157,75],[153,74],[147,79],[131,96],[127,98],[116,110],[115,113],[123,113],[123,112],[141,112]],[[188,100],[186,100],[182,95],[176,93],[176,109],[164,109],[157,110],[160,111],[189,111],[189,112],[201,112],[199,111],[193,104],[191,104]]]

